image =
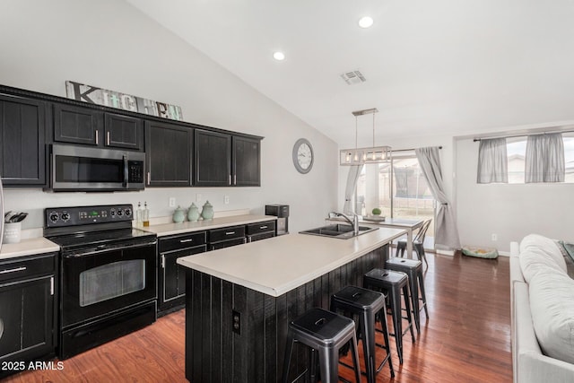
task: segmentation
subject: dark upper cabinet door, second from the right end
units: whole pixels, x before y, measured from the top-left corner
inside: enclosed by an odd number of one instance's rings
[[[196,129],[194,145],[196,187],[231,185],[231,135]]]

